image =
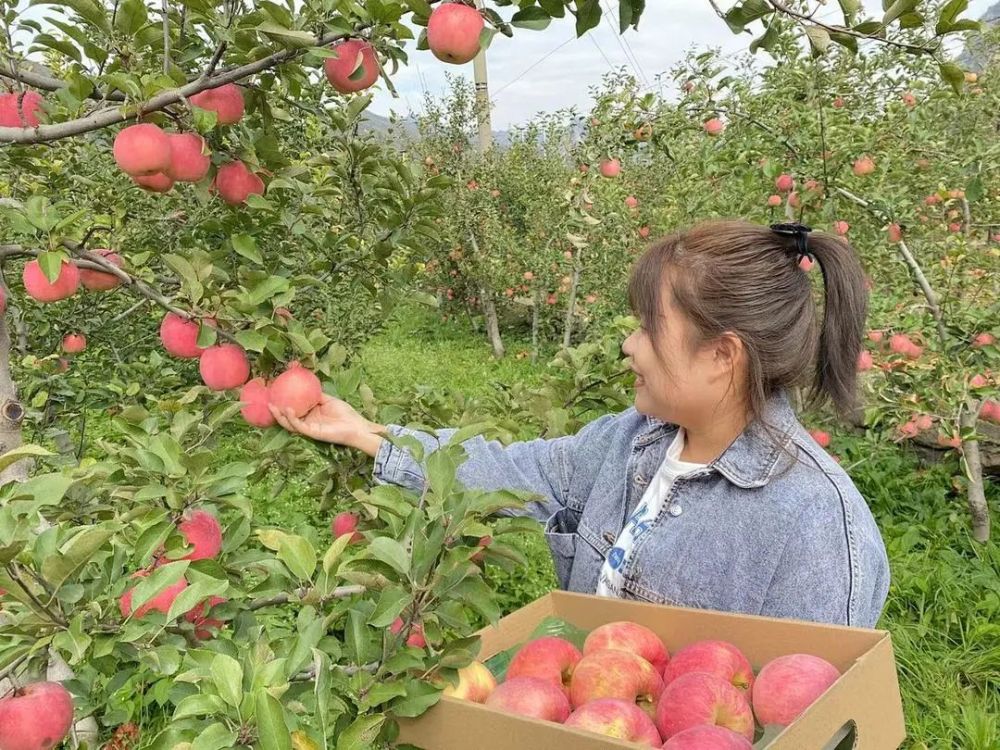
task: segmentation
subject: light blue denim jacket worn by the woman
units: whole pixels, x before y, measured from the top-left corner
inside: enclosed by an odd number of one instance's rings
[[[874,627],[889,588],[885,545],[844,470],[809,436],[787,395],[772,397],[705,469],[679,478],[624,566],[622,595],[642,601]],[[677,426],[634,407],[575,435],[504,446],[468,440],[458,479],[541,499],[517,511],[544,524],[564,589],[593,594],[605,557]],[[389,425],[433,451],[438,436]],[[793,458],[793,455],[796,458]],[[419,490],[420,466],[383,441],[373,479]]]

